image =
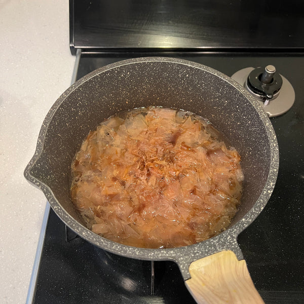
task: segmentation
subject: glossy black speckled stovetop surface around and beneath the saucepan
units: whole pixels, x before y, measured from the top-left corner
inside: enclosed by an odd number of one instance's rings
[[[82,54],[78,78],[114,61],[157,54]],[[304,302],[304,58],[293,54],[163,53],[197,61],[232,75],[273,64],[293,85],[295,103],[272,118],[280,149],[273,195],[238,241],[251,278],[265,303]],[[65,225],[51,210],[33,303],[194,303],[174,262],[151,263],[107,253],[80,237],[65,240]]]

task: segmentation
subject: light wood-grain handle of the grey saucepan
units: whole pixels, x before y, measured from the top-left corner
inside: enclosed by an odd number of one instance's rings
[[[203,257],[190,264],[188,290],[200,304],[264,303],[250,278],[246,261],[231,250]]]

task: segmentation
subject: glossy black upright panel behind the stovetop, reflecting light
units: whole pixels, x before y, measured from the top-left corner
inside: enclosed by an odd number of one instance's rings
[[[301,51],[304,3],[69,0],[70,48]]]

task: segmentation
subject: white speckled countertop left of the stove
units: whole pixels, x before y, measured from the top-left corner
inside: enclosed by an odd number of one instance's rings
[[[68,1],[0,0],[0,302],[24,303],[46,206],[23,171],[70,85]]]

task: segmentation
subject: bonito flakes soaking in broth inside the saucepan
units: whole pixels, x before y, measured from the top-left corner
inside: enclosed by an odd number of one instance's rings
[[[211,238],[240,204],[240,155],[206,119],[171,108],[120,113],[72,162],[71,197],[94,233],[171,248]]]

